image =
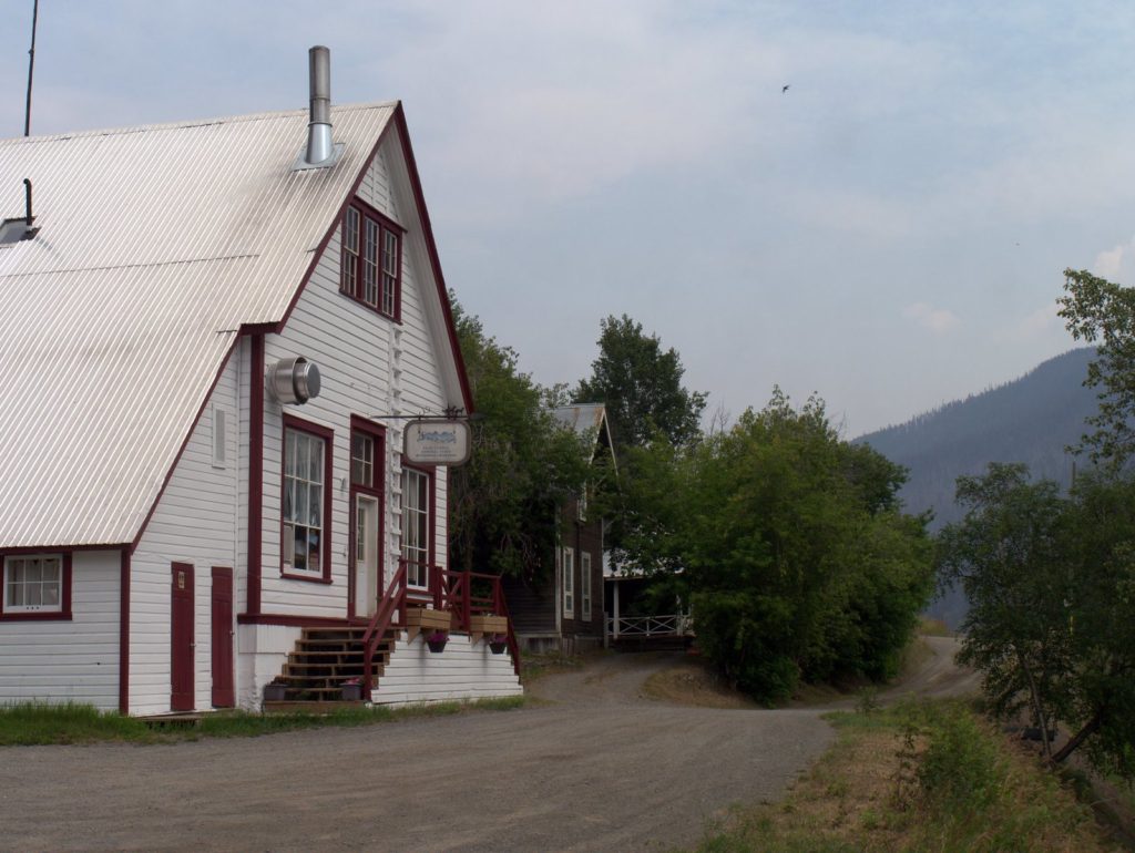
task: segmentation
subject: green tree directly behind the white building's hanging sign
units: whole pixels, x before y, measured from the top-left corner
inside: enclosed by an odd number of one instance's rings
[[[449,473],[453,561],[531,578],[549,567],[556,508],[579,493],[591,471],[578,436],[552,417],[548,391],[520,371],[516,353],[486,335],[455,299],[453,311],[481,416],[472,423],[469,463]]]

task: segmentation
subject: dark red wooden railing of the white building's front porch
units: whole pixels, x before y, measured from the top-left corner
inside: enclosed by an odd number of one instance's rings
[[[362,635],[363,698],[368,701],[371,698],[373,686],[371,661],[378,644],[392,626],[404,625],[406,620],[406,607],[410,603],[406,580],[410,565],[406,560],[398,560],[398,571],[367,625],[367,632]],[[434,608],[456,614],[460,631],[469,631],[471,617],[474,614],[493,614],[508,619],[508,653],[512,654],[512,668],[519,676],[520,645],[516,643],[516,634],[512,630],[512,619],[508,617],[508,605],[504,599],[501,577],[477,572],[451,572],[440,566],[429,566],[428,577]],[[397,622],[395,622],[396,615]]]

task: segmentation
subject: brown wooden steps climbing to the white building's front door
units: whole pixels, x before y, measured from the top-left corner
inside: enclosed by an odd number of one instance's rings
[[[327,709],[355,704],[343,701],[343,684],[351,679],[362,679],[365,627],[343,626],[331,628],[303,628],[288,653],[287,662],[275,679],[284,684],[283,700],[266,700],[264,711],[310,711],[309,706]],[[371,687],[377,684],[394,650],[395,632],[387,631],[379,641],[371,659]]]

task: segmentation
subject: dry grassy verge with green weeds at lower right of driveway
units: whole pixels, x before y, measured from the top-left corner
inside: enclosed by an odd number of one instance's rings
[[[958,701],[836,712],[780,803],[735,810],[701,853],[1117,850],[1087,805]]]

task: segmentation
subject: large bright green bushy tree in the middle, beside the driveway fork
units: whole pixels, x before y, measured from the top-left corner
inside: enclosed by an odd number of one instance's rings
[[[839,439],[823,403],[779,390],[728,432],[630,453],[623,548],[681,566],[703,652],[739,687],[893,674],[932,590],[923,521],[902,516],[898,466]]]

